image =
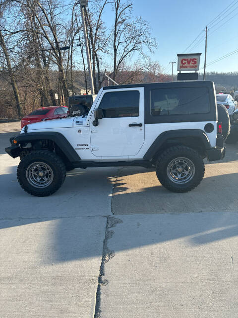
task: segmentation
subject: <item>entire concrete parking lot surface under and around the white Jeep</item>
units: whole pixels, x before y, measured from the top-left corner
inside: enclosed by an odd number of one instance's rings
[[[0,124],[0,317],[237,317],[238,145],[188,193],[152,169],[87,168],[33,197]]]

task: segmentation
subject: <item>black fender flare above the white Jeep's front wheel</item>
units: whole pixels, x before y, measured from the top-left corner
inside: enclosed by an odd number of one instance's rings
[[[21,142],[29,143],[33,140],[51,140],[60,148],[60,150],[64,153],[64,155],[70,162],[80,161],[80,157],[67,141],[67,139],[62,134],[57,132],[35,132],[19,134],[14,137],[14,140],[16,140],[19,144]]]

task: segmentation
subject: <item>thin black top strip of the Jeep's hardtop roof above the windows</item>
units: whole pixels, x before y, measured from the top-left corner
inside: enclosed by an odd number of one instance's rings
[[[193,86],[209,86],[213,85],[211,80],[189,80],[189,81],[166,81],[161,83],[138,83],[138,84],[125,84],[125,85],[114,85],[114,86],[104,86],[103,89],[119,89],[119,88],[133,88],[133,87],[193,87]]]

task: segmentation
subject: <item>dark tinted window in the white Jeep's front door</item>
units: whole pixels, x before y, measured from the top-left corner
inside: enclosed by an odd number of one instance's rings
[[[99,108],[104,118],[137,117],[139,116],[138,90],[107,92],[103,95]]]

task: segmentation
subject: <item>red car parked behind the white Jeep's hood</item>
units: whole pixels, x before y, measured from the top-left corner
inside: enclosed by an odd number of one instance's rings
[[[68,107],[65,106],[42,107],[34,110],[28,116],[22,118],[21,129],[25,125],[36,123],[38,121],[67,117],[67,110]]]

